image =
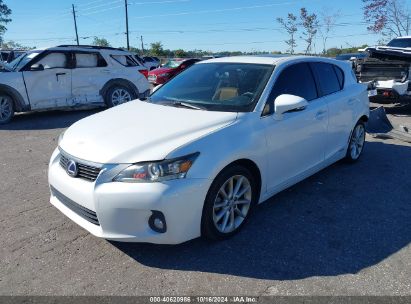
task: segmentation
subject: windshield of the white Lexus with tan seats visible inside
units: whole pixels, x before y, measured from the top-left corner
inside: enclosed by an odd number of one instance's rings
[[[250,112],[274,66],[246,63],[196,64],[155,91],[150,102],[190,105],[211,111]]]

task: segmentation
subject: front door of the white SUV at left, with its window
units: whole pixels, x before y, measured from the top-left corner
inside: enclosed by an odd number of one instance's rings
[[[70,53],[46,53],[23,71],[31,109],[67,106],[71,99]]]

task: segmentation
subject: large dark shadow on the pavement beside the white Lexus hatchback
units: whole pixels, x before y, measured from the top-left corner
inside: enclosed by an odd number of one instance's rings
[[[110,243],[160,269],[270,280],[358,273],[411,241],[410,155],[411,147],[368,142],[356,164],[336,163],[279,193],[227,241]]]

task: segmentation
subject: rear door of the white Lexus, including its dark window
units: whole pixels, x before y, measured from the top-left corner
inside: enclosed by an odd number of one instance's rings
[[[353,120],[356,100],[344,89],[344,72],[334,64],[310,63],[319,84],[320,94],[329,112],[325,159],[345,153]]]

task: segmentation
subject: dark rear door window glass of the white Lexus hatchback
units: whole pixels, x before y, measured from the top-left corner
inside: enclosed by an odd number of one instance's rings
[[[321,95],[329,95],[341,90],[341,84],[334,70],[334,65],[324,62],[310,63],[317,76]]]

